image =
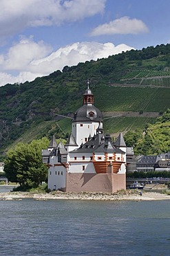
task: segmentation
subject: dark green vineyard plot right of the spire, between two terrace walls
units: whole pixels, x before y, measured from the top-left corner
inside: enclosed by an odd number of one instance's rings
[[[160,112],[170,106],[170,91],[166,88],[100,86],[93,92],[94,104],[101,111]]]

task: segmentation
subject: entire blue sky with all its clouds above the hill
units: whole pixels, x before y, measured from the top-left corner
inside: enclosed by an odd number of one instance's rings
[[[169,0],[0,0],[0,86],[170,43]]]

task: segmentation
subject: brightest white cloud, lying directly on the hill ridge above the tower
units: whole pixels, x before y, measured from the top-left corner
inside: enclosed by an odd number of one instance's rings
[[[63,66],[73,66],[78,62],[85,62],[87,60],[97,60],[98,58],[108,57],[121,53],[122,51],[129,51],[132,48],[125,44],[114,46],[112,43],[100,44],[98,42],[82,42],[74,43],[64,48],[59,48],[58,51],[41,59],[35,60],[30,64],[30,67],[40,72],[42,70],[52,72],[52,69],[63,69]]]

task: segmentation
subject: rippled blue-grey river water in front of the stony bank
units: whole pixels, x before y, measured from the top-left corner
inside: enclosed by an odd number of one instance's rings
[[[170,255],[169,200],[23,199],[0,212],[0,255]]]

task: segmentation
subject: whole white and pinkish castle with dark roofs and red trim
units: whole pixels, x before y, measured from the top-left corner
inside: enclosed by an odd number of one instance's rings
[[[57,145],[53,136],[42,150],[48,166],[48,188],[65,192],[116,192],[126,189],[127,147],[120,133],[116,142],[104,134],[103,116],[86,89],[83,106],[72,119],[67,143]]]

